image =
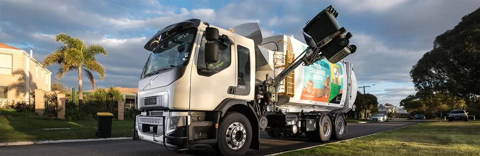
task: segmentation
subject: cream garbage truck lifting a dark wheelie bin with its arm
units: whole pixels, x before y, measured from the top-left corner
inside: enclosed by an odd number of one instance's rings
[[[148,39],[135,105],[134,139],[184,151],[212,145],[220,155],[260,150],[270,137],[340,139],[354,109],[357,79],[350,32],[328,6],[293,36],[263,38],[258,23],[222,29],[199,19]],[[265,133],[261,132],[261,133]]]

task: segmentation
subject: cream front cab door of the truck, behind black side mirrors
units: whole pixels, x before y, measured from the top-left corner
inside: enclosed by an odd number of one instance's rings
[[[200,34],[203,34],[204,29]],[[220,29],[221,35],[221,29]],[[233,39],[233,38],[230,38]],[[235,41],[234,41],[235,42]],[[195,55],[192,68],[190,88],[191,110],[213,110],[226,98],[235,98],[236,86],[236,51],[234,45],[228,45],[221,39],[215,41],[219,45],[219,61],[206,65],[204,60],[206,39],[203,36]],[[207,67],[208,70],[198,67]]]

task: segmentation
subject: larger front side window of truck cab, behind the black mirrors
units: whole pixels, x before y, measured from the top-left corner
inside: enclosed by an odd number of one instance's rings
[[[197,62],[197,66],[207,68],[207,64],[205,63],[205,43],[207,40],[205,39],[205,36],[201,38],[201,43],[200,43],[200,50],[199,50],[199,59]],[[211,63],[208,64],[208,69],[215,70],[215,71],[221,71],[228,66],[230,66],[231,62],[231,48],[230,45],[224,43],[223,41],[216,40],[214,41],[217,45],[219,45],[219,61],[216,63]]]

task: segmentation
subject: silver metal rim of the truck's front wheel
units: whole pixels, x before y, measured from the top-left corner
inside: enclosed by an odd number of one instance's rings
[[[228,147],[233,150],[240,149],[247,139],[247,132],[245,127],[240,122],[234,122],[228,126],[225,134]]]

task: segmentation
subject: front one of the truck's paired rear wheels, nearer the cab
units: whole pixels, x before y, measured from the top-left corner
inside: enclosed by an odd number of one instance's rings
[[[332,120],[327,115],[322,115],[315,131],[306,132],[307,138],[315,142],[327,142],[332,137]]]

